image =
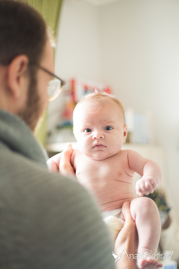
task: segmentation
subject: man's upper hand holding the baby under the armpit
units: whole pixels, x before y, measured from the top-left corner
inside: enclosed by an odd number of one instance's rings
[[[62,175],[75,174],[75,170],[73,169],[70,162],[72,152],[73,152],[72,145],[70,143],[67,143],[66,148],[61,153],[61,159],[59,165],[59,172]]]

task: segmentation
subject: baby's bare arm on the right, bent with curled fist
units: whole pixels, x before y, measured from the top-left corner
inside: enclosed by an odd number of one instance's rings
[[[127,153],[129,168],[142,176],[136,182],[135,189],[138,196],[152,193],[162,180],[161,169],[155,161],[143,158],[138,152],[129,150]]]

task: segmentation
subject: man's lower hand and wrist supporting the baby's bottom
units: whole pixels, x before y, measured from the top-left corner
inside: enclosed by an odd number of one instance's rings
[[[130,254],[135,255],[136,252],[136,242],[137,242],[137,231],[135,226],[135,221],[133,220],[131,213],[130,213],[130,203],[125,202],[122,206],[122,215],[125,219],[124,227],[119,232],[115,245],[114,245],[114,253],[116,255],[120,255],[121,250],[123,247],[125,247],[126,252],[130,258]],[[123,251],[122,256],[120,259],[116,262],[116,268],[117,269],[135,269],[135,259],[129,259]],[[132,255],[131,255],[132,256]]]

